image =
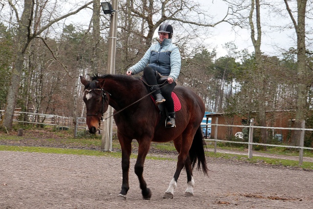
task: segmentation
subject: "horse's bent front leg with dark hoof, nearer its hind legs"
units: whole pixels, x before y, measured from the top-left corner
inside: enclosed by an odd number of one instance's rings
[[[150,149],[150,140],[139,140],[138,141],[138,157],[134,166],[135,174],[138,177],[139,185],[141,188],[142,197],[145,200],[150,200],[151,190],[147,187],[147,183],[143,178],[143,164],[145,162],[146,156]]]

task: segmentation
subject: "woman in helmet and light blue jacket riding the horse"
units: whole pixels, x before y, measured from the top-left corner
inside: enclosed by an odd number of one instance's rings
[[[174,101],[171,94],[179,76],[180,53],[179,48],[172,44],[172,25],[161,24],[157,32],[159,34],[158,43],[150,46],[141,60],[126,73],[132,75],[143,71],[143,77],[151,87],[150,91],[154,92],[156,106],[163,102],[165,104],[168,113],[165,126],[175,127]],[[158,86],[156,72],[161,75],[160,77],[167,77],[168,85],[164,85],[162,89]]]

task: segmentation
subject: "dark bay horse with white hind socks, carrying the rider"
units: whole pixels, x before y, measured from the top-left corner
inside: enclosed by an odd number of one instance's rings
[[[151,141],[174,141],[179,152],[177,168],[163,198],[173,198],[179,174],[183,168],[187,173],[185,196],[193,196],[194,178],[192,170],[195,165],[207,175],[204,147],[201,133],[201,121],[204,115],[204,104],[201,98],[190,89],[176,86],[174,91],[179,97],[181,109],[176,112],[176,127],[165,128],[165,119],[159,114],[143,82],[127,75],[94,75],[91,81],[80,76],[85,86],[83,100],[87,107],[87,126],[90,133],[95,133],[100,126],[102,114],[108,105],[115,109],[117,137],[122,149],[122,189],[118,195],[126,199],[129,189],[129,165],[132,151],[132,140],[138,142],[138,156],[134,172],[138,176],[142,196],[151,198],[151,190],[142,176],[143,164],[150,148]],[[124,109],[127,107],[126,109]],[[124,109],[124,110],[123,110]],[[163,118],[163,119],[161,119]],[[198,163],[197,163],[198,161]]]

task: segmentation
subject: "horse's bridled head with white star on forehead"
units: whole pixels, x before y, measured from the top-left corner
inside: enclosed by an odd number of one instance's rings
[[[97,80],[98,76],[91,77],[91,81],[80,76],[81,83],[85,86],[83,100],[86,104],[86,130],[95,134],[100,129],[103,114],[108,110],[109,98],[104,91],[104,79]]]

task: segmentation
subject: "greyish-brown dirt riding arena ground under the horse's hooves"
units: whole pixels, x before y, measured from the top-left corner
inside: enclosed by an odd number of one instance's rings
[[[176,161],[146,160],[152,190],[142,200],[134,159],[126,201],[121,159],[0,151],[0,209],[312,209],[313,171],[208,158],[209,177],[194,171],[195,194],[184,197],[182,171],[174,199],[162,199]]]

